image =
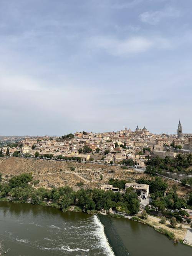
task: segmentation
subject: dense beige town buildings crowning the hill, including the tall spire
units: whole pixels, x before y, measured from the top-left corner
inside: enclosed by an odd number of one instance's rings
[[[53,158],[79,157],[81,161],[88,161],[92,153],[104,155],[105,163],[119,164],[122,161],[133,160],[137,166],[145,166],[145,161],[154,156],[170,156],[174,158],[179,146],[183,153],[192,151],[192,134],[183,134],[182,126],[179,121],[177,135],[156,135],[150,133],[147,128],[136,127],[135,131],[123,129],[120,131],[111,131],[105,133],[76,132],[68,138],[60,137],[26,137],[19,142],[20,147],[10,148],[10,153],[15,150],[22,154],[29,153],[35,156],[52,155]],[[88,148],[87,151],[83,150]],[[6,153],[7,147],[2,148]],[[90,153],[91,152],[91,153]],[[99,158],[96,158],[99,159]],[[100,158],[101,159],[101,158]]]

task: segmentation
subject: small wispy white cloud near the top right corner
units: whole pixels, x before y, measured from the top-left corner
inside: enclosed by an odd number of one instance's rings
[[[180,16],[179,10],[174,8],[166,8],[164,11],[144,12],[139,15],[142,22],[151,25],[157,25],[165,18],[178,18]]]

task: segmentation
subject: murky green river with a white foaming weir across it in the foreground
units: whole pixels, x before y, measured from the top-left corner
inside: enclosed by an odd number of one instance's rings
[[[8,256],[190,256],[154,229],[128,219],[0,202],[0,241]]]

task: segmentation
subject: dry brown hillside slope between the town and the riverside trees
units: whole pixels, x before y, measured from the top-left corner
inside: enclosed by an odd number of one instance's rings
[[[114,173],[109,173],[113,170]],[[3,179],[8,180],[12,175],[21,173],[32,173],[35,180],[40,180],[38,186],[50,188],[52,185],[69,185],[74,190],[78,190],[78,183],[83,183],[84,188],[100,187],[101,184],[107,184],[109,178],[125,179],[135,182],[138,178],[151,179],[145,173],[139,173],[134,170],[122,170],[117,166],[98,165],[95,163],[76,163],[65,161],[51,161],[34,158],[6,157],[0,158],[0,172]],[[103,180],[100,180],[100,177]],[[167,180],[171,187],[175,182]],[[178,183],[176,183],[178,185]],[[184,195],[190,192],[190,188],[178,186],[178,193]]]

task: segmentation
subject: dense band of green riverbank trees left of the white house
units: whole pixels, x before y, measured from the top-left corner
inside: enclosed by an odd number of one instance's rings
[[[38,180],[32,180],[33,177],[30,173],[12,176],[9,183],[0,184],[0,198],[10,196],[10,199],[15,202],[30,202],[40,205],[48,203],[63,211],[75,205],[88,213],[94,213],[102,208],[106,210],[109,210],[109,208],[117,209],[129,214],[139,212],[139,200],[137,194],[132,190],[127,190],[125,194],[121,194],[112,191],[105,192],[96,188],[81,188],[78,191],[73,191],[69,186],[52,187],[50,190],[42,187],[34,189],[34,184],[37,184]]]

